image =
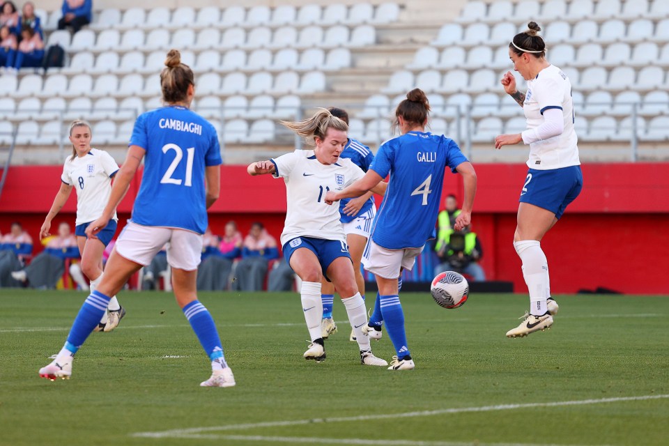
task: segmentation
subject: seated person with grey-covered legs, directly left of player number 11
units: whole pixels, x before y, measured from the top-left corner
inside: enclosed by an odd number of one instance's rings
[[[242,259],[235,269],[234,289],[238,291],[261,291],[268,263],[279,256],[277,240],[266,231],[262,223],[251,225],[244,239]]]

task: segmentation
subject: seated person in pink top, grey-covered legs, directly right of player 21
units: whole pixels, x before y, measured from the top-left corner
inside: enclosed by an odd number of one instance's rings
[[[215,247],[215,254],[205,257],[203,252],[203,260],[197,270],[197,289],[204,291],[228,289],[233,261],[240,256],[241,247],[242,234],[237,230],[237,224],[227,222],[224,236],[220,238],[218,246]],[[214,252],[214,247],[208,249]]]

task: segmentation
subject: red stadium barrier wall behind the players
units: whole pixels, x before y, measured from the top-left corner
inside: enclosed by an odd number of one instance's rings
[[[514,282],[525,292],[521,261],[512,245],[518,192],[525,165],[476,164],[479,188],[472,229],[484,249],[482,266],[491,280]],[[44,216],[60,187],[60,166],[16,166],[8,171],[0,197],[0,231],[18,220],[37,238]],[[553,293],[605,287],[624,293],[669,291],[669,163],[587,164],[585,187],[541,245],[551,268]],[[139,188],[135,178],[119,206],[121,224],[130,217]],[[278,240],[286,210],[282,180],[252,178],[246,167],[221,168],[221,199],[210,209],[214,233],[236,220],[247,233],[263,222]],[[462,197],[460,177],[448,175],[445,192]],[[74,192],[72,193],[74,195]],[[74,224],[76,200],[70,197],[56,222]],[[36,249],[38,244],[36,243]]]

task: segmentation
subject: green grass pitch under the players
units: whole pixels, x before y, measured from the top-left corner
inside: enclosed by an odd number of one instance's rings
[[[0,290],[0,445],[669,445],[666,296],[557,295],[551,330],[507,339],[525,295],[406,293],[416,369],[392,372],[360,365],[339,303],[316,364],[297,294],[201,293],[237,380],[220,389],[173,296],[128,292],[72,379],[40,379],[84,298]]]

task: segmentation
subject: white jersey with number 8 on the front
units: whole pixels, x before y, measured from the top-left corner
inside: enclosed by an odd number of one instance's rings
[[[63,166],[61,180],[77,191],[77,221],[75,225],[97,220],[107,206],[112,194],[112,176],[118,171],[118,164],[112,155],[97,148],[91,148],[82,157],[68,156]],[[114,220],[118,220],[114,212]]]

